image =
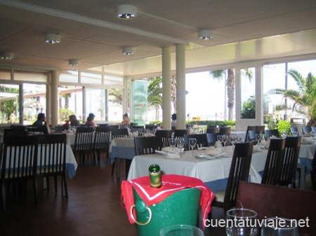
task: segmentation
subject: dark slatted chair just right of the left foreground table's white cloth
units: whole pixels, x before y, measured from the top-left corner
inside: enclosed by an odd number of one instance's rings
[[[84,165],[86,156],[91,155],[93,147],[93,127],[77,127],[76,137],[74,139],[74,152],[79,154],[79,159]]]

